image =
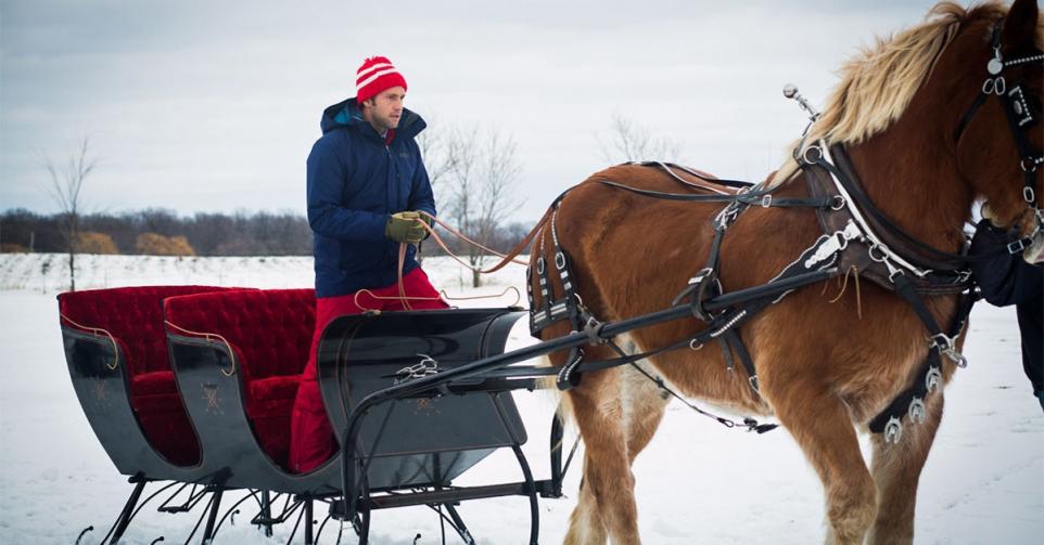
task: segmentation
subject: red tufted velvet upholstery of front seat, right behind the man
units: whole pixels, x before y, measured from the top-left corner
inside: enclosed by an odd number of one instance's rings
[[[235,352],[246,415],[268,456],[287,467],[290,415],[316,322],[313,289],[265,289],[171,297],[166,320],[225,337]],[[176,329],[170,333],[179,334]]]

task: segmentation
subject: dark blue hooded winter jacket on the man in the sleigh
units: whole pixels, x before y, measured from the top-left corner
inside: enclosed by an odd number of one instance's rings
[[[389,216],[435,215],[428,171],[413,141],[426,127],[403,109],[392,141],[362,119],[355,99],[328,107],[322,137],[308,155],[308,224],[316,258],[316,297],[336,297],[397,281],[398,243],[384,237]],[[404,274],[417,268],[409,247]]]

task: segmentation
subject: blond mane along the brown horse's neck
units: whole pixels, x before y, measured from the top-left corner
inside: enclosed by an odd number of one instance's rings
[[[954,2],[935,4],[925,23],[890,38],[877,38],[841,69],[841,81],[827,101],[823,116],[805,139],[805,146],[820,139],[830,143],[858,144],[893,124],[928,79],[939,54],[957,35],[960,26],[981,18],[1001,20],[1008,8],[990,1],[971,9]],[[1044,41],[1037,26],[1037,42]],[[792,153],[799,144],[791,147]],[[803,152],[803,150],[802,150]],[[773,177],[773,185],[789,180],[798,170],[788,159]]]

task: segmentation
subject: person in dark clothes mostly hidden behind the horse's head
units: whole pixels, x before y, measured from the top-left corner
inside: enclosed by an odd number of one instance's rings
[[[976,226],[970,257],[993,252],[992,259],[971,261],[971,272],[982,290],[982,297],[997,307],[1015,304],[1022,341],[1022,368],[1033,386],[1033,394],[1044,408],[1044,268],[1030,264],[1022,252],[1006,251],[1008,243],[1017,239],[985,219]],[[998,251],[1005,249],[1005,251]]]

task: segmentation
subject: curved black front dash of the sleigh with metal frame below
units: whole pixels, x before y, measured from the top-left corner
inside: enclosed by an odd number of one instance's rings
[[[456,505],[514,495],[529,498],[529,543],[537,543],[537,498],[561,497],[569,465],[566,460],[563,469],[560,417],[551,423],[551,477],[535,480],[522,452],[525,428],[510,395],[511,390],[535,389],[535,377],[442,380],[446,373],[500,354],[523,315],[515,309],[395,312],[342,316],[328,326],[319,345],[319,384],[342,445],[343,472],[343,495],[331,504],[331,516],[353,521],[360,544],[368,543],[371,511],[417,505],[440,506],[443,521],[464,543],[475,543]],[[409,336],[400,337],[404,332]],[[426,367],[411,365],[419,360]],[[411,366],[433,374],[412,380],[405,373]],[[432,379],[435,389],[403,389]],[[374,397],[381,402],[369,403]],[[504,447],[513,452],[521,481],[453,484],[454,478]]]

